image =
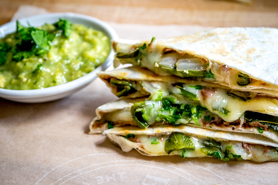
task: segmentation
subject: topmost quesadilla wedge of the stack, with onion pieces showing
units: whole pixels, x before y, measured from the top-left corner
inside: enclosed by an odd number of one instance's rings
[[[278,29],[216,28],[149,41],[114,40],[114,65],[146,67],[232,89],[278,90]]]

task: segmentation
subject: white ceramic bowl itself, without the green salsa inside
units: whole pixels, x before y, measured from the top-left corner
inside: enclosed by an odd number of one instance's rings
[[[97,18],[93,18],[90,16],[75,14],[75,13],[50,13],[43,14],[37,16],[31,16],[19,19],[19,22],[28,26],[28,22],[30,25],[34,27],[38,27],[43,25],[44,23],[54,23],[59,20],[59,18],[67,19],[72,23],[83,24],[87,27],[92,27],[93,29],[102,31],[108,36],[108,38],[115,39],[118,38],[118,35],[108,24],[103,21],[100,21]],[[4,37],[7,34],[16,31],[16,21],[11,21],[0,26],[0,38]],[[109,65],[112,64],[114,58],[114,51],[111,49],[109,56],[105,60],[105,62],[98,66],[94,71],[88,73],[87,75],[75,79],[71,82],[67,82],[65,84],[47,87],[43,89],[34,89],[34,90],[9,90],[0,88],[0,97],[12,101],[24,102],[24,103],[39,103],[52,101],[56,99],[60,99],[71,95],[72,93],[81,90],[85,86],[89,85],[95,78],[96,72],[104,71],[107,69]]]

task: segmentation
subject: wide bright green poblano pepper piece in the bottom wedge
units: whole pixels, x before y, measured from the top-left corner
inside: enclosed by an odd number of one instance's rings
[[[169,138],[165,141],[164,150],[166,153],[180,150],[195,150],[194,143],[189,136],[180,132],[172,132]]]

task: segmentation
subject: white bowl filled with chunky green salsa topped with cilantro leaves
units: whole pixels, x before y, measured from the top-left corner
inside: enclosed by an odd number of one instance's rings
[[[92,82],[110,65],[110,40],[118,36],[96,18],[53,13],[2,25],[0,37],[0,97],[34,103],[65,97]]]

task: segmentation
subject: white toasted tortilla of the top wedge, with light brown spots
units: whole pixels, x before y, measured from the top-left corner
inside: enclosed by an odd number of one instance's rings
[[[116,53],[127,52],[150,42],[119,39],[114,40],[113,48]],[[181,56],[189,54],[206,60],[210,65],[212,62],[225,65],[257,80],[246,86],[217,81],[213,83],[240,90],[278,90],[278,29],[276,28],[216,28],[188,36],[155,40],[147,46],[147,51],[144,52],[157,53],[161,56],[165,50],[176,51]],[[136,62],[132,61],[126,61],[125,58],[115,59],[115,62],[136,65]],[[151,58],[147,63],[139,62],[138,64],[156,71],[155,62]]]

